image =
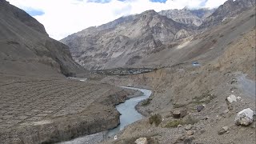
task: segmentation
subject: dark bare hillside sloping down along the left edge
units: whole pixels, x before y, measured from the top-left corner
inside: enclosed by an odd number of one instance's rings
[[[25,11],[0,1],[1,74],[73,75],[82,70],[70,50],[48,37],[44,26]]]

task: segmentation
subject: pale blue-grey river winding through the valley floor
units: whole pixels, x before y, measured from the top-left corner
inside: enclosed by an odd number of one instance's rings
[[[104,140],[104,138],[110,137],[114,138],[114,135],[117,134],[120,130],[123,130],[125,126],[136,122],[143,118],[142,114],[139,114],[138,111],[135,109],[135,106],[138,105],[138,102],[142,102],[146,98],[149,98],[152,91],[146,90],[146,89],[138,89],[134,87],[126,87],[126,86],[120,86],[122,88],[126,89],[132,89],[132,90],[140,90],[142,91],[142,95],[138,96],[136,98],[130,98],[126,100],[126,102],[119,104],[116,106],[117,110],[121,114],[120,116],[120,125],[113,130],[108,130],[106,132],[101,132],[97,134],[90,134],[86,135],[81,138],[75,138],[68,142],[60,142],[61,144],[94,144],[101,142]]]

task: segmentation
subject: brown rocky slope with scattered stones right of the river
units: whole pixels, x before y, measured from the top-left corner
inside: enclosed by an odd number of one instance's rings
[[[255,22],[254,7],[176,49],[186,55],[181,57],[193,59],[152,73],[102,78],[154,90],[138,106],[147,118],[127,126],[117,140],[102,143],[133,143],[138,138],[160,144],[255,143]],[[159,53],[152,62],[170,52]],[[250,116],[240,112],[248,109]]]

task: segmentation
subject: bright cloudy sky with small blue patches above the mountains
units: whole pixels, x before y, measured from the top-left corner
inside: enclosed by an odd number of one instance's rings
[[[7,0],[41,22],[60,40],[90,26],[146,10],[216,8],[226,0]]]

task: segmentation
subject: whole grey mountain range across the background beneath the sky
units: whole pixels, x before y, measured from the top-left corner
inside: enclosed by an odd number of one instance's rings
[[[70,47],[76,62],[90,70],[154,67],[147,62],[152,55],[185,46],[191,40],[191,35],[196,37],[202,30],[222,24],[224,18],[232,18],[250,9],[254,3],[251,0],[230,0],[216,10],[184,8],[159,13],[148,10],[87,28],[63,38],[61,42]],[[178,59],[182,59],[182,56]],[[179,62],[178,59],[170,61],[175,64]]]

